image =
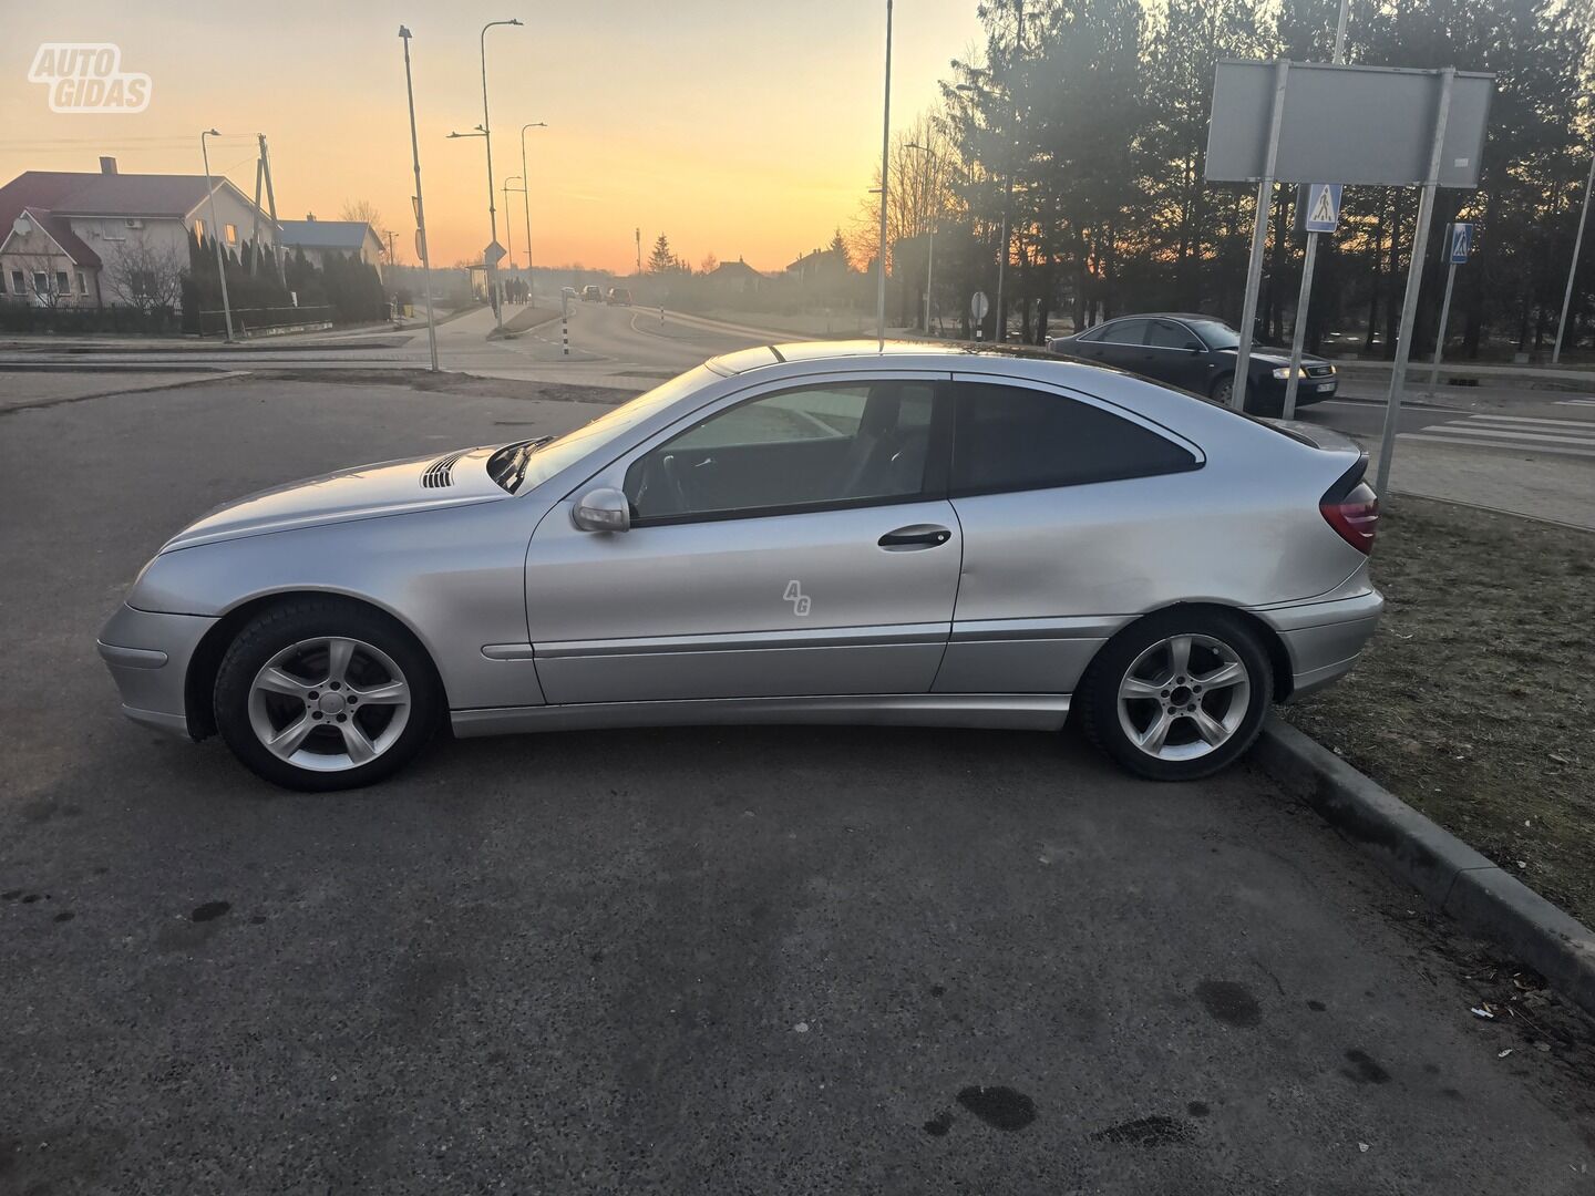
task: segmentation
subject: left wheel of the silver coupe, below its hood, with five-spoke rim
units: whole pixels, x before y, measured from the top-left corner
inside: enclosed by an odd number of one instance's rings
[[[327,793],[408,764],[437,729],[443,700],[431,657],[402,624],[359,603],[313,598],[244,625],[222,657],[214,711],[250,772]]]

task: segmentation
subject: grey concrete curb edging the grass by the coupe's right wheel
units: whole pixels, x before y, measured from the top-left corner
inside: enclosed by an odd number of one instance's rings
[[[1522,960],[1595,1016],[1595,931],[1278,714],[1252,761],[1472,934]]]

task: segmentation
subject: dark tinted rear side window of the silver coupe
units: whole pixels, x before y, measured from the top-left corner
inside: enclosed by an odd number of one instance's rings
[[[952,493],[1048,490],[1199,466],[1172,440],[1048,391],[959,383]]]

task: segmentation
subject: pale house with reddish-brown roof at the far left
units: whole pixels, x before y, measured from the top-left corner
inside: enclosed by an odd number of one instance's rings
[[[215,223],[234,252],[278,228],[242,191],[212,177]],[[0,301],[46,306],[175,305],[188,241],[211,230],[203,174],[26,171],[0,187]],[[171,292],[167,297],[166,292]]]

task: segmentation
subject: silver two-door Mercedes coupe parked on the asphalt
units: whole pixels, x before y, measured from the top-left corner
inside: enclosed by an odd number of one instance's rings
[[[568,435],[388,461],[174,536],[100,631],[124,713],[297,789],[455,735],[1059,730],[1211,773],[1353,667],[1357,447],[1113,370],[916,343],[707,362]]]

